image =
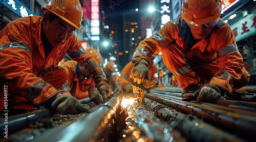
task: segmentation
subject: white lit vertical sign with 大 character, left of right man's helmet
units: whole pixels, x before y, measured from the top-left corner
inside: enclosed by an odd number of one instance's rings
[[[170,20],[170,0],[161,0],[160,1],[160,13],[162,13],[161,16],[161,27],[163,27],[163,25],[165,23],[167,23]]]

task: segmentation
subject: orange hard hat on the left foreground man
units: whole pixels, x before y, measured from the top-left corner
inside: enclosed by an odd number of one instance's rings
[[[41,7],[41,9],[47,13],[51,11],[61,19],[74,26],[77,30],[80,30],[82,21],[82,7],[79,0],[51,0],[48,5]]]

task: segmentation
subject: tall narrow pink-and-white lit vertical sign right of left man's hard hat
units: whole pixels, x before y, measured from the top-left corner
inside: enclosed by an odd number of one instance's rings
[[[91,40],[99,41],[99,0],[91,0]]]

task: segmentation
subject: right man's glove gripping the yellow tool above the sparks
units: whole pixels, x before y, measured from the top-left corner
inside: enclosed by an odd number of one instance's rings
[[[146,76],[148,76],[148,62],[144,59],[134,63],[129,76],[133,79],[134,82],[141,84]]]

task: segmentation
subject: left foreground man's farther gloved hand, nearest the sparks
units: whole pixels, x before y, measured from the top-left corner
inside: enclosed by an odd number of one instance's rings
[[[110,88],[108,83],[100,81],[98,84],[95,85],[95,87],[98,89],[103,99],[110,97],[112,89]]]

